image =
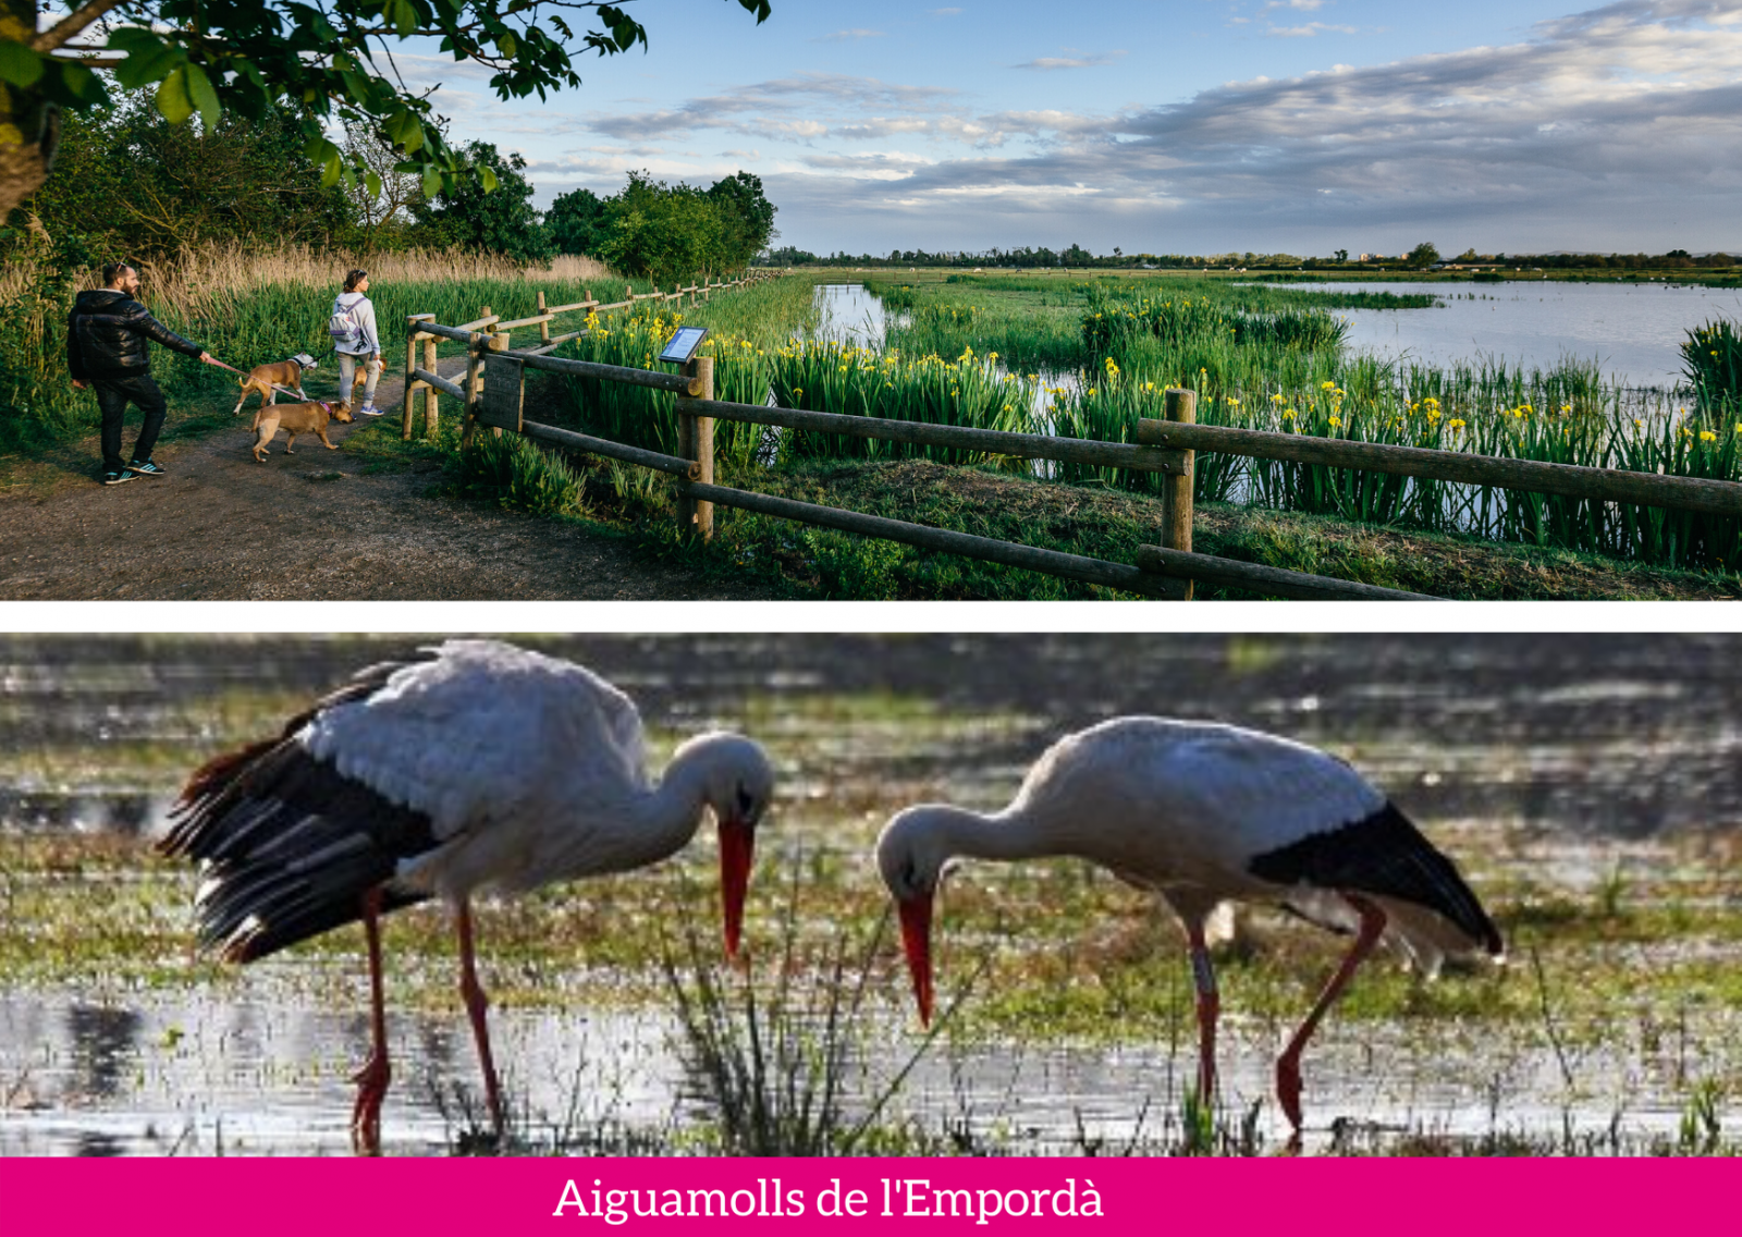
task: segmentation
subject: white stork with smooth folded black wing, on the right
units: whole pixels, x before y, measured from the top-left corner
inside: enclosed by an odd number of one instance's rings
[[[1075,855],[1158,894],[1185,925],[1205,1101],[1216,1085],[1219,997],[1204,927],[1216,906],[1282,902],[1322,925],[1354,929],[1354,946],[1277,1059],[1277,1099],[1294,1129],[1301,1051],[1381,936],[1428,969],[1446,953],[1503,950],[1453,862],[1361,774],[1305,744],[1239,727],[1115,718],[1049,747],[1002,812],[899,812],[876,857],[901,913],[923,1021],[932,1016],[932,899],[944,864],[958,855]]]

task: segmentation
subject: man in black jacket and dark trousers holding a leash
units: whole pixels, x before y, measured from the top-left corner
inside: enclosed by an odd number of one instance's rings
[[[152,448],[164,429],[164,392],[152,382],[150,341],[199,357],[213,366],[218,361],[200,345],[183,340],[152,317],[134,296],[139,294],[139,272],[124,261],[103,267],[103,287],[78,293],[73,312],[66,319],[66,369],[73,387],[94,387],[98,408],[103,409],[103,484],[160,477],[164,469],[152,462]],[[145,415],[139,437],[132,444],[132,460],[120,462],[120,430],[127,404],[138,404]]]

